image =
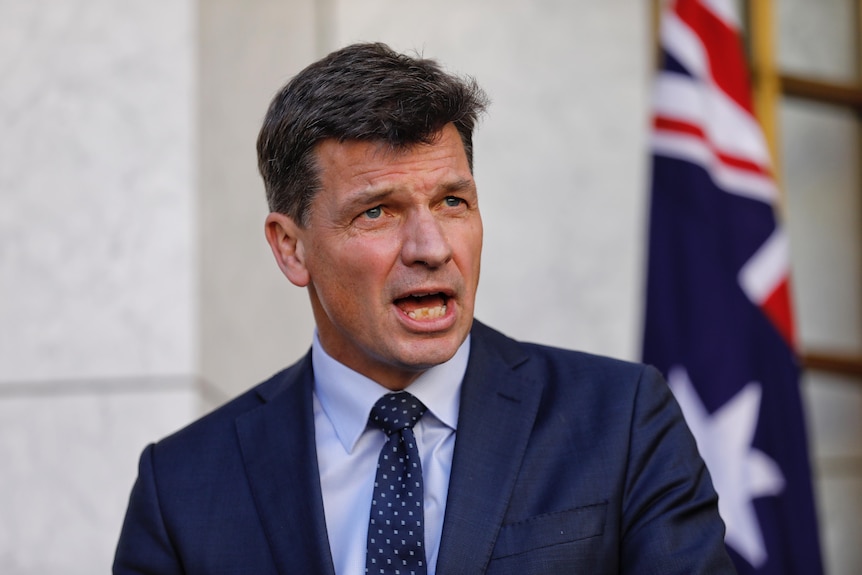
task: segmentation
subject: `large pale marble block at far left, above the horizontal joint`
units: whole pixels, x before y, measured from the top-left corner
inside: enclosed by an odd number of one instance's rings
[[[0,381],[192,371],[192,16],[0,3]]]

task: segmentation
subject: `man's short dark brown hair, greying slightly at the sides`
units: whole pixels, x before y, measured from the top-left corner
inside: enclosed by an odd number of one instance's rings
[[[473,127],[488,99],[472,78],[385,44],[353,44],[297,74],[275,96],[257,140],[269,209],[307,225],[320,183],[315,148],[326,139],[432,143],[458,129],[473,169]]]

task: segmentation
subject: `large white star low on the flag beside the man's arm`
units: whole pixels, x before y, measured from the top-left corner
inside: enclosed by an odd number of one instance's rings
[[[668,384],[718,492],[718,512],[727,526],[725,541],[753,567],[762,566],[767,553],[753,500],[781,493],[784,476],[775,461],[752,446],[763,393],[760,384],[748,383],[711,415],[685,368],[671,368]]]

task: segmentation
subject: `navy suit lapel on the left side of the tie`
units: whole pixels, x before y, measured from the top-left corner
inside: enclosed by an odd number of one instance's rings
[[[310,354],[264,386],[236,421],[246,474],[278,572],[334,575],[317,469]]]

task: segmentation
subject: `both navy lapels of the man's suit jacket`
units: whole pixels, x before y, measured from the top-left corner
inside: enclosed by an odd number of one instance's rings
[[[438,573],[480,573],[490,560],[543,389],[541,380],[518,369],[527,358],[519,344],[474,322]],[[236,421],[261,524],[283,575],[335,573],[315,451],[313,385],[309,354],[262,384],[264,403]],[[303,461],[309,464],[296,464]]]

